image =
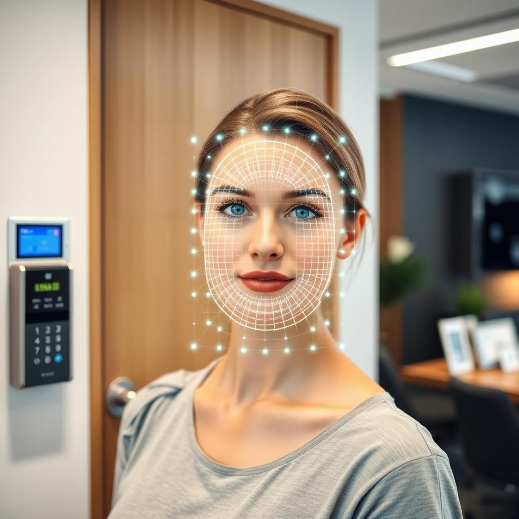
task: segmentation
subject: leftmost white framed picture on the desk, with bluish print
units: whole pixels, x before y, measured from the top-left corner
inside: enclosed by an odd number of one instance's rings
[[[464,317],[451,317],[438,321],[443,353],[451,376],[474,370],[474,357],[470,347],[467,321]]]

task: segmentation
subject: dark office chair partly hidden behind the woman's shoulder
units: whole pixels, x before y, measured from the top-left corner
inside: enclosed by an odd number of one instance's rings
[[[456,432],[456,406],[449,395],[431,394],[411,397],[388,349],[380,344],[379,384],[394,398],[404,413],[426,427],[439,444]]]

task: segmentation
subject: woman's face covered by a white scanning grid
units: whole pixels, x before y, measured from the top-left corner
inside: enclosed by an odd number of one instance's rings
[[[252,134],[218,153],[199,226],[209,290],[238,324],[279,330],[320,304],[346,239],[328,165],[290,135]]]

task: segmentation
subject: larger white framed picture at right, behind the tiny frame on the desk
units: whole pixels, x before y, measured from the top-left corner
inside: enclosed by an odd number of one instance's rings
[[[503,365],[506,369],[513,366],[513,347],[517,342],[515,323],[510,317],[479,322],[475,331],[475,349],[480,368],[488,370],[499,366],[502,348]]]

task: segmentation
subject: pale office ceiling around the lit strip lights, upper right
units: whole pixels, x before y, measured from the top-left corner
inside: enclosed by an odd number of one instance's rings
[[[519,0],[379,0],[380,93],[414,93],[519,114],[519,43],[438,61],[477,74],[469,83],[392,67],[393,54],[519,28]]]

